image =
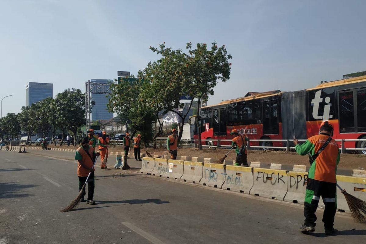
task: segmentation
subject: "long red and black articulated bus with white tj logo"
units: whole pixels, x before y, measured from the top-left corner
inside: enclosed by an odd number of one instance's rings
[[[201,139],[232,139],[232,129],[247,128],[250,139],[306,139],[318,134],[322,121],[334,127],[334,139],[366,139],[366,76],[324,82],[314,88],[275,94],[259,93],[202,107]],[[195,139],[198,139],[195,128]],[[210,141],[212,140],[212,141]],[[221,143],[223,145],[229,142]],[[253,146],[286,146],[283,142],[251,142]],[[339,142],[340,145],[340,142]],[[365,148],[366,142],[344,142]]]

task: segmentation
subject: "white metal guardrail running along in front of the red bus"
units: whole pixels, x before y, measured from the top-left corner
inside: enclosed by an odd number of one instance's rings
[[[156,140],[167,140],[167,137],[157,137]],[[201,140],[202,142],[209,142],[207,143],[208,145],[202,145],[202,147],[215,147],[215,148],[231,148],[231,145],[222,145],[220,142],[231,142],[231,140],[221,140],[221,139],[209,139],[209,140]],[[299,142],[305,142],[306,139],[302,139],[299,140]],[[182,143],[184,142],[184,144]],[[216,142],[216,143],[213,143]],[[286,143],[286,146],[284,147],[275,147],[275,146],[251,146],[250,142],[284,142]],[[366,147],[364,148],[353,148],[353,147],[344,147],[344,142],[366,142],[366,139],[336,139],[336,142],[340,142],[341,146],[340,146],[340,150],[341,153],[346,153],[347,150],[349,151],[365,151],[366,152]],[[249,140],[249,144],[248,144],[248,149],[250,148],[258,148],[258,149],[285,149],[286,151],[290,151],[291,149],[294,150],[295,147],[291,147],[290,143],[293,143],[292,140],[269,140],[269,139],[264,139],[264,140],[259,140],[259,139],[250,139]],[[180,140],[180,144],[181,145],[198,145],[198,140],[190,140],[190,139],[182,139]],[[203,144],[203,143],[202,143]],[[216,144],[216,145],[214,145]]]

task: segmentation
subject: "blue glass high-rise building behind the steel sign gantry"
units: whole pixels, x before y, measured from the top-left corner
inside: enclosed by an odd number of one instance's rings
[[[112,80],[90,80],[91,83],[112,83]],[[113,113],[109,113],[107,104],[109,96],[106,94],[90,94],[91,100],[95,102],[91,109],[91,121],[94,120],[109,120],[112,119]]]

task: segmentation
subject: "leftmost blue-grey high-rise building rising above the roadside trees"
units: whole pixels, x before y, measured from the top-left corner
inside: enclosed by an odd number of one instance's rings
[[[25,86],[26,106],[44,100],[46,97],[53,97],[53,84],[29,82]]]

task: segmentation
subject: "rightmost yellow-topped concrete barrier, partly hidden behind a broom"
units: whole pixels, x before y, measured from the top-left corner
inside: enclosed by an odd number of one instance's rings
[[[338,185],[346,192],[366,202],[366,178],[337,175]],[[337,187],[337,209],[340,212],[350,212],[344,195]]]

